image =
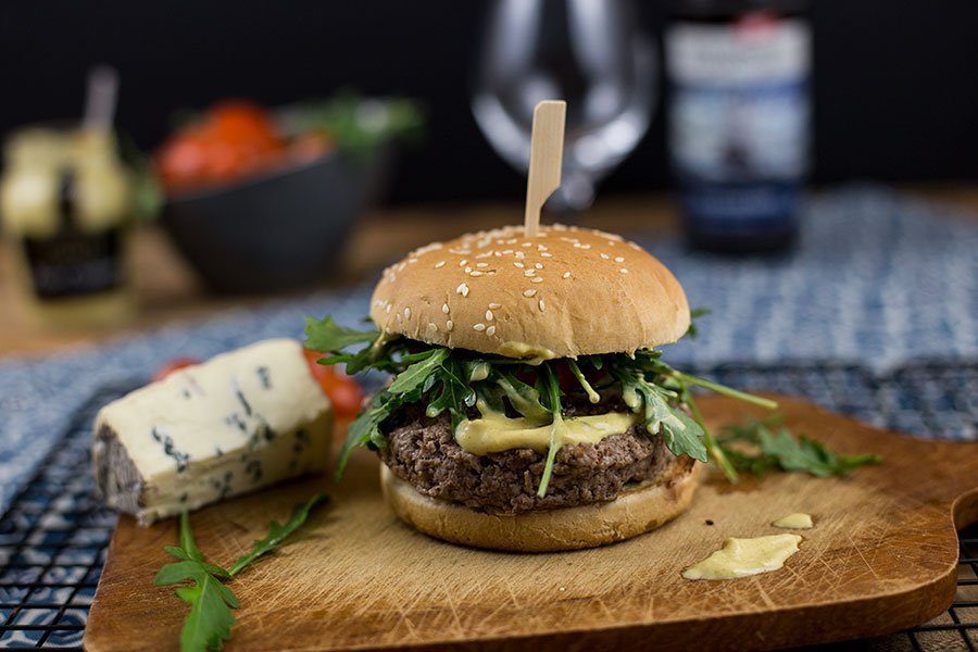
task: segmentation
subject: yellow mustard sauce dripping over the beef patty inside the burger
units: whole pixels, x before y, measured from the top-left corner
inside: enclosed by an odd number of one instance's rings
[[[546,453],[552,435],[557,448],[576,443],[597,444],[605,437],[625,432],[638,421],[635,414],[610,412],[564,417],[552,424],[541,424],[525,417],[510,418],[491,410],[482,401],[477,405],[481,417],[463,421],[455,429],[455,441],[474,455],[519,448]]]

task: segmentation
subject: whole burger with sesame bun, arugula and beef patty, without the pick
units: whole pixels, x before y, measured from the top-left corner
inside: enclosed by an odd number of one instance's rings
[[[374,328],[309,318],[322,364],[389,374],[351,424],[384,497],[454,543],[544,552],[612,543],[686,511],[711,457],[705,387],[663,362],[691,329],[676,277],[620,236],[553,225],[464,235],[384,271]]]

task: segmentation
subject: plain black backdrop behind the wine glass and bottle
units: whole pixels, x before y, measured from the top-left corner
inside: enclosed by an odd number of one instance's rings
[[[531,1],[531,0],[528,0]],[[659,34],[660,3],[639,2]],[[978,2],[815,0],[817,183],[978,175]],[[87,68],[116,66],[118,124],[146,148],[175,111],[233,96],[267,104],[340,88],[402,93],[428,133],[392,201],[518,197],[525,181],[468,110],[485,2],[355,0],[0,3],[0,131],[82,111]],[[604,192],[668,185],[661,105]]]

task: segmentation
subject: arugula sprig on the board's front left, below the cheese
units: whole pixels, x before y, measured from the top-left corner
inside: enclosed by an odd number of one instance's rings
[[[305,504],[297,505],[291,518],[285,525],[273,521],[269,524],[268,536],[255,541],[251,552],[238,559],[230,570],[204,561],[203,553],[193,540],[189,514],[187,512],[180,514],[180,544],[165,547],[166,552],[179,561],[160,568],[153,584],[168,586],[192,582],[190,586],[174,589],[177,598],[190,605],[190,613],[180,631],[183,652],[221,650],[224,647],[224,642],[230,639],[230,629],[236,622],[231,610],[241,605],[224,582],[258,557],[278,547],[286,537],[305,523],[310,511],[325,499],[325,494],[317,493]]]

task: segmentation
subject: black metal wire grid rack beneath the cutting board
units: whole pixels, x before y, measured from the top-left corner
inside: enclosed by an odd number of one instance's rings
[[[914,364],[885,376],[839,364],[728,364],[697,369],[745,389],[799,394],[865,422],[926,437],[978,437],[978,362]],[[131,387],[106,388],[0,517],[0,648],[80,650],[115,515],[93,493],[88,446],[96,411]],[[978,649],[978,526],[961,532],[957,595],[913,630],[847,649]],[[835,645],[826,647],[836,649]]]

